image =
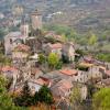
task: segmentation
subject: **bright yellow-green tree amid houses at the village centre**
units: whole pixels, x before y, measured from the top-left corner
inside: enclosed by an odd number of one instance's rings
[[[58,58],[57,54],[55,54],[55,53],[51,53],[51,54],[48,55],[47,61],[48,61],[48,65],[50,65],[52,68],[55,68],[55,67],[57,66],[57,64],[59,63],[59,58]]]

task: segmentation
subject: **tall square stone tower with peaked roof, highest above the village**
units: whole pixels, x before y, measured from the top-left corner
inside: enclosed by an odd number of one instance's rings
[[[37,10],[32,12],[31,22],[32,22],[32,29],[33,30],[42,29],[42,14],[40,14],[37,12]]]

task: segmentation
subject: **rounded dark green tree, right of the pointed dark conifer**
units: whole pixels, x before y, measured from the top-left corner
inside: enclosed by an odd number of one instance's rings
[[[38,91],[38,101],[44,102],[46,105],[53,103],[53,96],[51,90],[44,85]]]

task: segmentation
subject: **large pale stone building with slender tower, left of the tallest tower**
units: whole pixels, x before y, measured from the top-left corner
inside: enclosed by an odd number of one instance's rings
[[[19,44],[25,42],[26,37],[29,36],[29,26],[28,24],[23,24],[21,31],[10,32],[8,35],[4,36],[4,50],[6,55],[9,56],[12,54],[12,51]]]

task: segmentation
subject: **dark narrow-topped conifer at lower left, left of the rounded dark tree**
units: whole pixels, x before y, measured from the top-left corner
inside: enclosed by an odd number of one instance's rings
[[[28,85],[28,81],[25,81],[21,96],[15,98],[15,103],[22,107],[29,107],[32,105],[31,102],[32,102],[31,90]]]

